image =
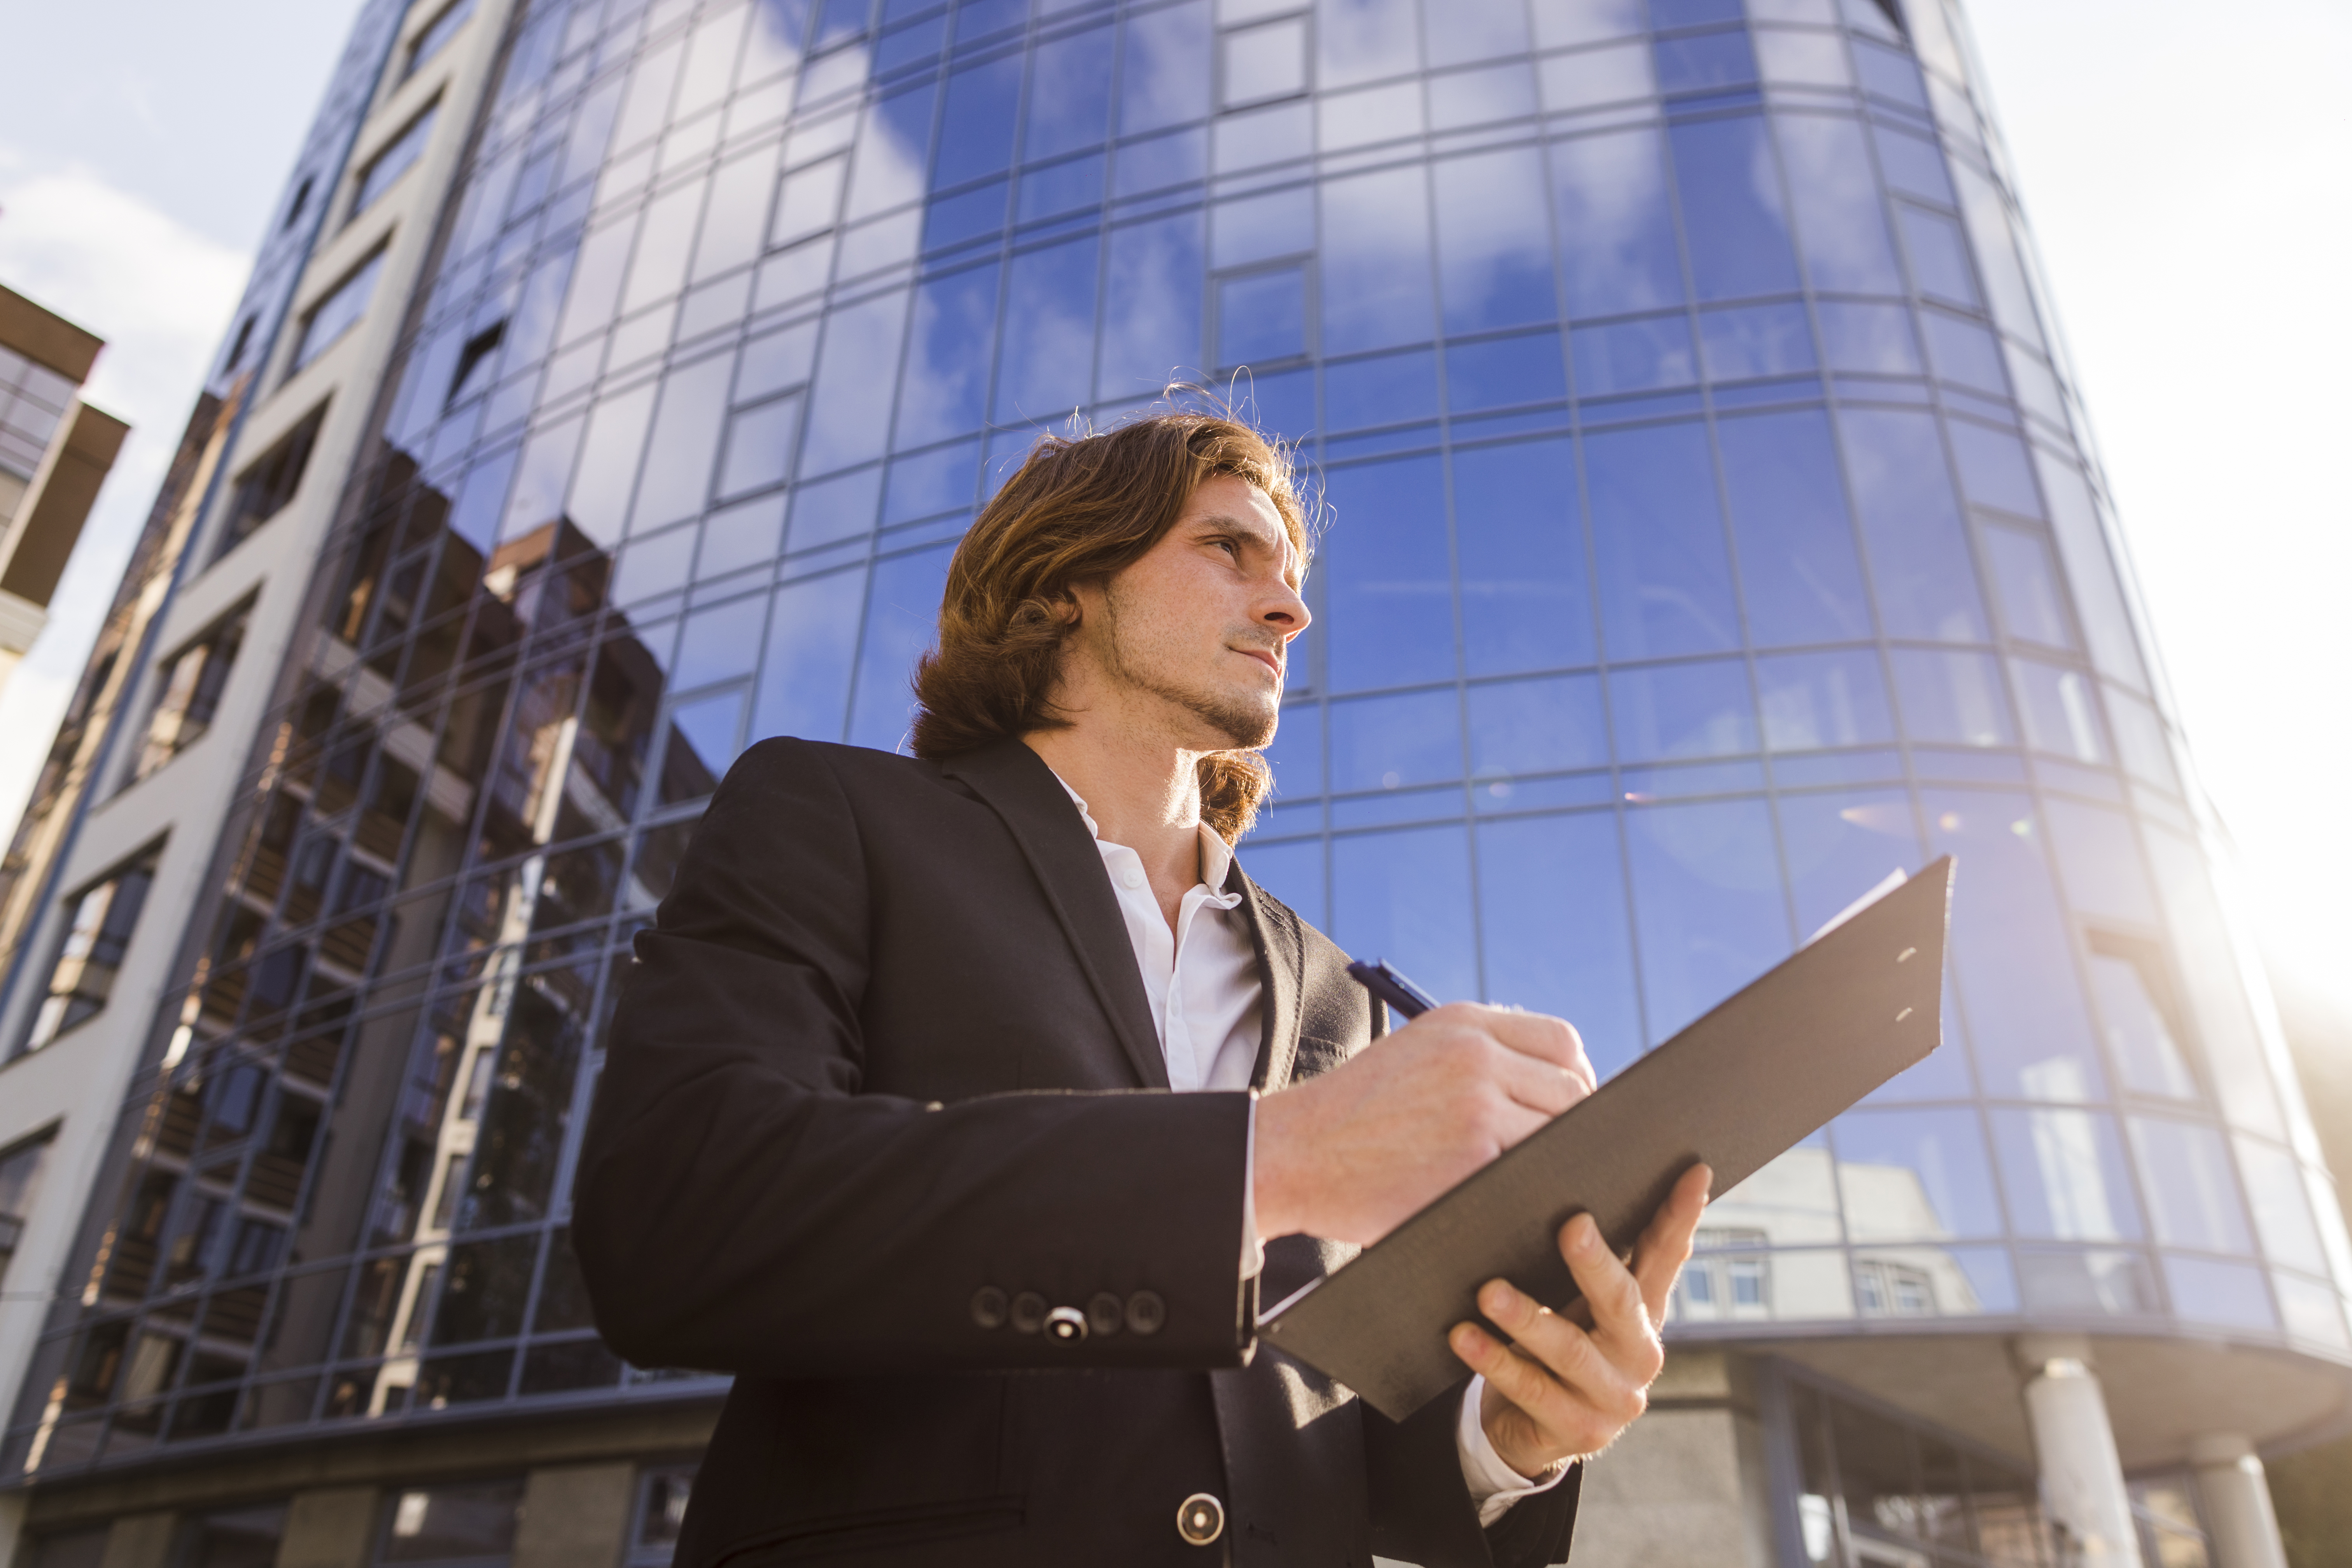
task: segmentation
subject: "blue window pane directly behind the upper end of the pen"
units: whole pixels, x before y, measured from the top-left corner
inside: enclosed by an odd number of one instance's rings
[[[1477,917],[1463,827],[1331,842],[1331,938],[1388,959],[1439,1001],[1477,997]]]

